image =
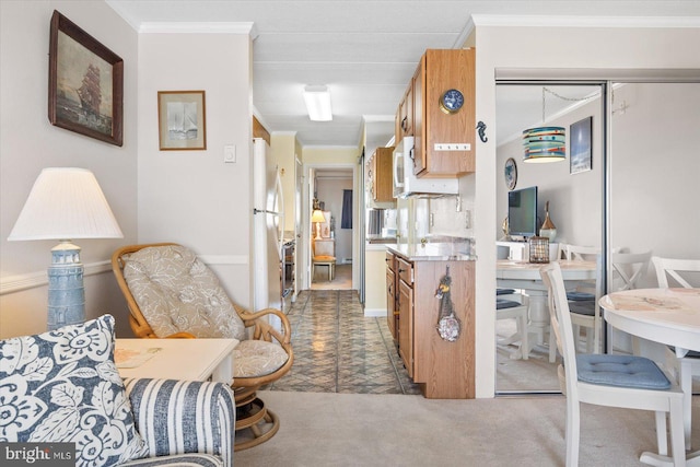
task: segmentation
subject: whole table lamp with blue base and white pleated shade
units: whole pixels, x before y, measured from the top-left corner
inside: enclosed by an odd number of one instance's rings
[[[92,172],[44,168],[9,241],[57,240],[48,268],[48,330],[85,320],[80,247],[73,238],[121,238],[121,230]]]

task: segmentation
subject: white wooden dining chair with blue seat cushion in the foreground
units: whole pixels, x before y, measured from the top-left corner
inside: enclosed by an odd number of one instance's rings
[[[567,396],[567,467],[579,465],[581,430],[580,404],[653,410],[656,419],[658,454],[643,453],[643,463],[667,460],[666,413],[669,415],[670,445],[675,466],[685,466],[682,392],[651,360],[635,355],[576,354],[569,301],[560,266],[540,269],[549,292],[549,314],[557,347],[563,357],[558,374]],[[614,463],[614,459],[610,459]]]

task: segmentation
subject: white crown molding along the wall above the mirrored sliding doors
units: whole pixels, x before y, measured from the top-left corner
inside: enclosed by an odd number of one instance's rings
[[[477,27],[700,27],[700,16],[549,16],[472,14],[471,21]]]

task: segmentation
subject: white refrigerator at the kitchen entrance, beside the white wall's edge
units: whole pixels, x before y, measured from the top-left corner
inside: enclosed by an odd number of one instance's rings
[[[278,167],[267,161],[267,141],[255,138],[253,148],[253,310],[281,310],[282,184]]]

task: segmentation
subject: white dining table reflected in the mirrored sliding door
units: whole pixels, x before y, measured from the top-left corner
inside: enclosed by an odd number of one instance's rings
[[[561,275],[567,287],[575,287],[582,281],[595,280],[595,261],[560,259]],[[522,289],[529,296],[529,332],[536,334],[539,343],[549,330],[549,307],[547,305],[547,285],[542,282],[539,270],[544,264],[499,259],[495,267],[495,280],[500,288]],[[530,340],[530,347],[535,342]],[[550,352],[553,362],[555,352]]]

